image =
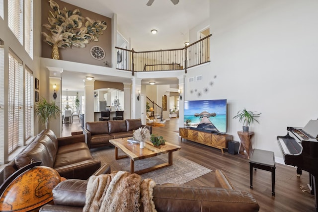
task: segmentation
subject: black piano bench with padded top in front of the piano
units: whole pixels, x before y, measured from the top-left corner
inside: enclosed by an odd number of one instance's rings
[[[275,196],[275,155],[272,151],[253,149],[249,157],[250,188],[253,189],[253,168],[272,172],[272,196]]]

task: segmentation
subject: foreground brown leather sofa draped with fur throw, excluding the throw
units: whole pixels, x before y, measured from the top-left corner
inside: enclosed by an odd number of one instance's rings
[[[258,212],[259,205],[247,192],[236,191],[222,170],[215,171],[215,187],[181,184],[156,185],[153,192],[157,212]],[[81,212],[87,180],[66,180],[53,189],[55,205],[40,212]]]

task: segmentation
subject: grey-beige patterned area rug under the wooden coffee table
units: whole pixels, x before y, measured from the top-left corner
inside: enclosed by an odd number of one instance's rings
[[[111,171],[130,171],[130,158],[115,160],[114,147],[104,147],[96,150],[92,149],[91,153],[95,159],[100,159],[102,164],[110,164]],[[118,150],[118,155],[124,155],[124,153]],[[158,165],[167,161],[168,154],[160,154],[155,157],[137,160],[135,161],[135,171],[152,167],[154,165]],[[141,176],[143,179],[151,178],[157,184],[184,184],[211,171],[211,169],[208,169],[191,160],[188,160],[180,155],[173,153],[172,166],[148,172]]]

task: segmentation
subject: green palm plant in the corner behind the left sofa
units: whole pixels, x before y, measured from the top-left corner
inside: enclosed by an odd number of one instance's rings
[[[40,123],[45,124],[45,129],[48,129],[49,120],[56,119],[61,113],[60,108],[55,101],[47,102],[46,99],[40,99],[35,105],[35,115],[39,117]]]

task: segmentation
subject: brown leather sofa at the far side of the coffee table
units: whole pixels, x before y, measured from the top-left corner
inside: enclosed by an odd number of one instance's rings
[[[96,148],[101,146],[112,146],[111,139],[132,137],[133,131],[140,127],[147,127],[152,134],[152,126],[142,125],[141,119],[126,119],[116,121],[86,122],[86,135],[88,147]]]

